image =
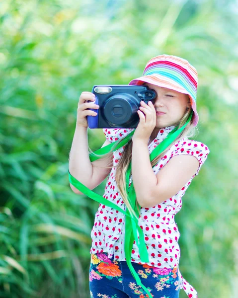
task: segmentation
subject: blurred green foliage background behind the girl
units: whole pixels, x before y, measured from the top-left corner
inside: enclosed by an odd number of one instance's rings
[[[211,151],[176,215],[180,271],[199,298],[236,297],[237,20],[235,0],[0,2],[0,297],[89,297],[98,203],[68,181],[79,96],[164,53],[198,71],[197,140]]]

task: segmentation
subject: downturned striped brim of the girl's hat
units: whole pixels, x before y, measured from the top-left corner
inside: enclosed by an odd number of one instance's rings
[[[144,82],[151,83],[159,87],[172,89],[180,93],[188,94],[190,98],[191,107],[194,112],[192,124],[193,126],[196,126],[198,124],[199,117],[197,113],[196,101],[192,98],[191,94],[185,88],[183,88],[181,85],[176,83],[174,80],[160,74],[144,75],[144,76],[135,78],[129,82],[129,85],[142,85]]]

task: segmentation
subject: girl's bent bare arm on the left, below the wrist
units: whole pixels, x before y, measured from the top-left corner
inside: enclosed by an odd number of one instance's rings
[[[110,142],[106,140],[102,147],[108,144],[110,144]],[[110,166],[110,168],[105,168],[105,166]],[[112,166],[112,152],[108,154],[106,158],[100,158],[93,162],[90,161],[88,153],[87,127],[76,126],[69,157],[69,171],[71,175],[89,189],[94,189],[109,175]],[[76,194],[83,194],[71,183],[70,187]]]

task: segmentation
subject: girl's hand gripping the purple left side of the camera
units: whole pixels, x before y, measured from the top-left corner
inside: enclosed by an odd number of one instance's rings
[[[90,102],[87,102],[90,101]],[[82,92],[79,97],[77,110],[77,126],[88,127],[86,116],[96,116],[97,113],[88,109],[99,109],[99,105],[94,103],[95,95],[91,92]]]

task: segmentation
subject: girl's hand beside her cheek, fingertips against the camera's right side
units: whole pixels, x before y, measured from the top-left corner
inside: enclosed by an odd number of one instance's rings
[[[140,117],[140,122],[132,137],[132,141],[142,140],[148,143],[156,127],[156,109],[151,101],[149,101],[148,104],[141,101],[141,106],[137,112]]]

